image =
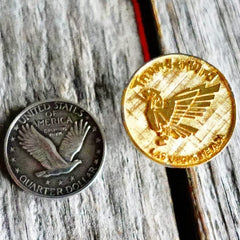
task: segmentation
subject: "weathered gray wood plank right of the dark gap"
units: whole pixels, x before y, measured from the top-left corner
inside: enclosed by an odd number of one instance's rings
[[[163,52],[192,54],[215,65],[240,103],[240,2],[152,0]],[[239,110],[237,111],[239,117]],[[240,239],[240,127],[225,150],[188,171],[201,239]]]

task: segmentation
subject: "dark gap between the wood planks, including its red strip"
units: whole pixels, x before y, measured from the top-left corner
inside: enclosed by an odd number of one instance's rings
[[[158,30],[150,0],[132,0],[145,62],[164,54],[158,41]],[[199,240],[197,222],[185,169],[167,168],[179,237]]]

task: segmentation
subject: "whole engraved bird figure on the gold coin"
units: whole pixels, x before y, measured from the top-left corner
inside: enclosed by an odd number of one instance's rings
[[[170,136],[178,139],[196,133],[197,128],[182,124],[181,121],[183,118],[195,119],[203,116],[219,86],[220,84],[216,84],[206,88],[201,85],[186,89],[167,100],[163,100],[161,92],[156,89],[144,89],[143,95],[147,100],[146,117],[150,128],[159,136],[157,144],[165,145],[165,140]]]

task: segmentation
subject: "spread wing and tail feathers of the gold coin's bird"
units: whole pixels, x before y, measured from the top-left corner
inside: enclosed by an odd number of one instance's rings
[[[183,124],[181,121],[184,118],[195,119],[203,116],[219,88],[220,84],[211,87],[206,87],[203,84],[193,89],[188,88],[169,99],[169,101],[175,102],[174,110],[168,123],[175,138],[190,136],[198,131],[197,128]]]

